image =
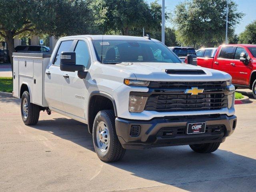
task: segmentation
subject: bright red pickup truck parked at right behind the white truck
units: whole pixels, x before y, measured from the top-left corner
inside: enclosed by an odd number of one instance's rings
[[[197,64],[229,73],[236,87],[250,88],[256,98],[256,45],[228,44],[196,52]]]

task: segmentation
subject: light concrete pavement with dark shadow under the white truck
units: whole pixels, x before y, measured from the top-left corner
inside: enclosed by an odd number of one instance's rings
[[[236,105],[236,131],[212,154],[189,146],[128,150],[101,162],[87,126],[41,112],[25,126],[20,100],[0,96],[0,191],[256,191],[256,102]]]

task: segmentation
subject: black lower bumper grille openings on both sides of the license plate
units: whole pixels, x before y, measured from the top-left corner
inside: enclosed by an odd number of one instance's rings
[[[176,135],[186,135],[186,127],[178,127],[178,128],[162,128],[158,131],[156,136],[160,136],[162,138],[168,138]],[[205,133],[201,134],[219,134],[220,132],[225,132],[225,126],[224,125],[212,125],[212,126],[206,126]]]

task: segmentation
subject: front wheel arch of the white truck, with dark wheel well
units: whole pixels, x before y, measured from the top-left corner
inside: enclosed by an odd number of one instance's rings
[[[95,102],[98,105],[95,105]],[[106,92],[94,91],[90,94],[87,106],[87,122],[88,131],[92,133],[93,122],[96,114],[100,110],[114,110],[115,116],[117,117],[116,102],[114,97]]]

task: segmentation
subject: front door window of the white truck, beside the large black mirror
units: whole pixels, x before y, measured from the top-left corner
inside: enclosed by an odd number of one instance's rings
[[[76,64],[84,65],[85,68],[88,68],[88,64],[90,64],[90,54],[86,42],[79,40],[76,44],[75,52]]]

